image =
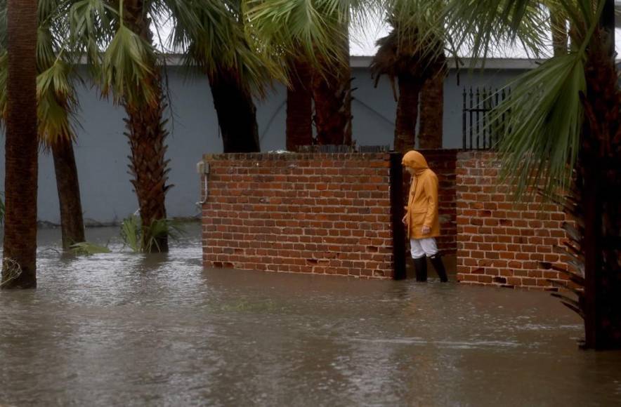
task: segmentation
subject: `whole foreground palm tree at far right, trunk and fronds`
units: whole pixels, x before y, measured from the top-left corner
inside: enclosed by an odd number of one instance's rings
[[[563,302],[584,317],[584,347],[621,347],[621,92],[613,59],[610,0],[452,0],[450,26],[485,57],[494,43],[549,44],[547,8],[568,18],[570,49],[512,84],[495,114],[509,114],[499,145],[516,191],[542,194],[575,219],[566,224],[570,258]],[[566,194],[558,194],[558,191]],[[553,267],[545,265],[545,267]]]

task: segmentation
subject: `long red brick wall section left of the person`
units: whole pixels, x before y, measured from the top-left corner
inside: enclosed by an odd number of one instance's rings
[[[218,154],[204,161],[205,266],[393,275],[388,154]]]

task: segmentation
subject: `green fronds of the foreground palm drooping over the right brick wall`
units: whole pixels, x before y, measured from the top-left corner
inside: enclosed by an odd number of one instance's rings
[[[499,151],[504,153],[502,173],[516,185],[516,196],[535,193],[536,187],[556,196],[570,185],[584,117],[580,98],[587,90],[587,46],[603,0],[596,7],[591,0],[451,0],[449,7],[454,31],[464,32],[462,44],[470,41],[473,55],[485,58],[495,41],[521,40],[532,51],[544,46],[550,37],[547,6],[569,16],[573,49],[509,84],[511,97],[492,112],[490,121],[509,117]]]

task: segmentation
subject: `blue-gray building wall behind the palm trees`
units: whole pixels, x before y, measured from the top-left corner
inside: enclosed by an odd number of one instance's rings
[[[462,145],[462,86],[501,86],[518,71],[462,72],[459,86],[451,72],[445,81],[443,143],[447,148]],[[357,88],[352,106],[353,137],[358,145],[391,144],[396,102],[388,79],[374,88],[370,72],[353,69]],[[195,164],[204,153],[222,152],[216,112],[207,79],[188,76],[185,69],[169,69],[171,117],[167,157],[171,159],[169,182],[174,187],[166,197],[171,217],[198,214],[199,179]],[[285,148],[286,92],[276,86],[266,100],[257,102],[257,120],[263,151]],[[76,161],[79,172],[84,218],[96,222],[119,222],[138,208],[127,173],[129,145],[123,135],[124,111],[99,98],[95,89],[79,91]],[[0,147],[0,182],[4,185],[4,142]],[[4,187],[1,187],[4,189]],[[39,156],[39,220],[58,224],[58,195],[51,155]]]

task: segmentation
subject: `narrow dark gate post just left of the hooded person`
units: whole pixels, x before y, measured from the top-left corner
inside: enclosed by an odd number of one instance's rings
[[[393,229],[393,279],[403,280],[405,273],[405,228],[403,227],[403,168],[398,152],[390,153],[391,220]]]

